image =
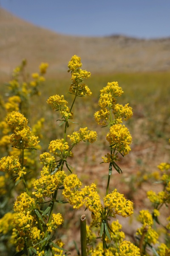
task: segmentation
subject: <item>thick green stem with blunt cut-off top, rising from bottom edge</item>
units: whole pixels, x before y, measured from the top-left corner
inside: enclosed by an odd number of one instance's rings
[[[80,218],[81,253],[86,256],[86,218],[83,214]]]

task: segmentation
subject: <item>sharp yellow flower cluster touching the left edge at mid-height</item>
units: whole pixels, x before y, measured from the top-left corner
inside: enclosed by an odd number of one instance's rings
[[[21,169],[19,157],[8,156],[2,157],[0,160],[0,171],[1,172],[14,172],[20,177],[26,174],[25,167]]]

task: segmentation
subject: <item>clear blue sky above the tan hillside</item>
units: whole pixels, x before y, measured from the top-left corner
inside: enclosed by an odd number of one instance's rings
[[[66,35],[170,37],[170,0],[0,0],[0,7]]]

